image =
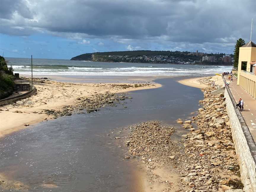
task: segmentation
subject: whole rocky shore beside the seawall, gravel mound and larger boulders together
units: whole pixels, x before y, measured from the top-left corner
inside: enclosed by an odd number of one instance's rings
[[[182,119],[177,121],[188,133],[181,135],[180,141],[174,142],[172,134],[175,128],[163,126],[158,121],[129,127],[131,133],[125,141],[129,147],[129,157],[137,157],[143,162],[149,169],[148,182],[164,185],[163,191],[242,192],[243,184],[225,97],[222,93],[211,94],[220,86],[210,78],[200,81],[208,85],[202,89],[204,100],[199,101],[203,106],[199,108],[197,116],[184,122]],[[161,175],[153,173],[155,169],[168,165],[175,168],[180,176],[175,188],[172,188],[171,179],[164,181]]]

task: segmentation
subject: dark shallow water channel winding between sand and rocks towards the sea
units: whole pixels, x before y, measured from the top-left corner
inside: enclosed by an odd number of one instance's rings
[[[148,120],[176,125],[188,118],[203,93],[176,80],[157,79],[163,87],[130,92],[133,99],[124,105],[44,121],[1,138],[0,175],[27,185],[24,191],[134,191],[132,164],[108,133]]]

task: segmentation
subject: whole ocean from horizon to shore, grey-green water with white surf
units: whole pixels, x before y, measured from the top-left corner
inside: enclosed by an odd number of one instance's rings
[[[15,73],[31,74],[31,59],[6,58]],[[231,66],[156,63],[107,63],[60,59],[33,59],[34,75],[92,76],[201,76],[231,71]]]

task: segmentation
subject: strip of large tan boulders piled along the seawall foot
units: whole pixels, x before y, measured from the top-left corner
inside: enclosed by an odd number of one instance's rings
[[[230,122],[223,94],[212,95],[217,89],[211,86],[204,91],[204,105],[193,120],[197,129],[183,136],[184,153],[177,169],[182,176],[179,191],[229,191],[241,190],[239,165],[232,142]],[[184,122],[185,123],[185,122]],[[224,182],[227,181],[227,182]],[[193,183],[193,184],[192,184]]]

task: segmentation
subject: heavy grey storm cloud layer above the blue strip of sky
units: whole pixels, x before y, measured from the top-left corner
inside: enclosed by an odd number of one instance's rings
[[[0,25],[4,27],[0,32],[10,35],[41,31],[57,36],[80,34],[81,38],[201,44],[246,38],[256,8],[255,0],[0,2]]]

